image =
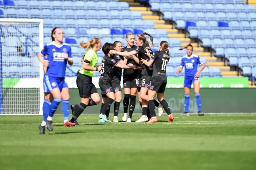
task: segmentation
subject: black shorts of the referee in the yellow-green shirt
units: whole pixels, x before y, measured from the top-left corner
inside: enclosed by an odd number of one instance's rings
[[[87,98],[93,93],[98,93],[95,85],[92,83],[92,77],[84,74],[78,74],[76,86],[79,90],[80,97]]]

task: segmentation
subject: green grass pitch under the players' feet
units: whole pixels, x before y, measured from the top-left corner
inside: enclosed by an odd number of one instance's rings
[[[81,115],[82,125],[63,127],[55,115],[45,135],[42,116],[0,116],[0,169],[256,169],[256,114],[174,116],[173,123],[163,115],[154,124],[99,124],[98,115]]]

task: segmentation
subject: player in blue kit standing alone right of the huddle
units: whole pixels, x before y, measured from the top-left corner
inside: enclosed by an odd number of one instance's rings
[[[202,59],[198,55],[193,53],[193,46],[188,44],[186,47],[181,48],[187,50],[187,54],[184,55],[181,59],[180,68],[176,71],[179,74],[183,67],[185,67],[185,78],[184,78],[184,93],[185,93],[185,112],[182,114],[183,116],[189,116],[188,114],[188,106],[189,106],[189,95],[191,84],[194,85],[194,91],[196,95],[196,104],[198,109],[198,115],[203,116],[204,114],[201,112],[201,97],[200,97],[200,72],[204,69],[205,64]],[[197,70],[198,64],[202,65],[200,70]]]

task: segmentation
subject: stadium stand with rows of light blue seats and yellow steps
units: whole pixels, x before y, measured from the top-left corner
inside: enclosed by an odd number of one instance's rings
[[[43,18],[44,43],[50,42],[51,29],[61,26],[65,41],[72,46],[74,65],[70,69],[74,72],[83,55],[78,46],[80,40],[86,42],[96,36],[102,44],[119,40],[126,45],[127,32],[148,32],[154,37],[156,48],[162,40],[169,42],[172,59],[168,63],[168,77],[184,75],[176,75],[175,70],[186,53],[178,49],[188,43],[206,63],[202,77],[237,77],[256,75],[254,2],[249,0],[246,5],[242,0],[4,0],[0,1],[0,15]],[[14,39],[13,46],[17,46],[17,38]],[[36,57],[35,52],[30,52],[32,58]],[[99,51],[98,56],[103,57],[103,53]],[[12,64],[8,57],[4,59],[4,66]],[[74,76],[70,69],[66,71],[67,77]],[[25,75],[21,72],[18,76]]]

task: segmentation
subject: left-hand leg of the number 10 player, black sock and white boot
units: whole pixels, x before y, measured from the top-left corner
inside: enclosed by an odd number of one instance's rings
[[[123,81],[124,84],[124,115],[122,117],[122,121],[127,120],[127,113],[128,113],[128,106],[129,106],[129,99],[130,99],[130,93],[131,93],[131,82],[130,81]]]

